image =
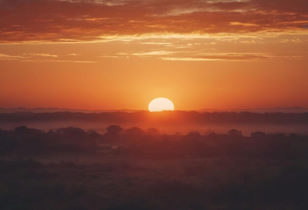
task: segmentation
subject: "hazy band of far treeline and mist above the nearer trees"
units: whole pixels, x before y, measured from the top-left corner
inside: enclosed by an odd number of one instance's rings
[[[138,127],[143,130],[156,128],[161,133],[185,134],[198,131],[202,134],[211,132],[225,133],[239,129],[244,135],[253,131],[284,132],[308,134],[308,113],[235,113],[214,112],[198,113],[186,111],[164,111],[151,113],[12,113],[0,114],[0,128],[11,130],[18,126],[27,126],[44,131],[65,127],[78,127],[83,130],[106,132],[111,125],[120,125],[124,129]]]

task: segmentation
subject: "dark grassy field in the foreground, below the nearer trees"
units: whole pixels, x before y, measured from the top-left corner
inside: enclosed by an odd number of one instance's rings
[[[294,210],[307,206],[307,160],[294,164],[256,158],[72,158],[2,159],[1,209]]]

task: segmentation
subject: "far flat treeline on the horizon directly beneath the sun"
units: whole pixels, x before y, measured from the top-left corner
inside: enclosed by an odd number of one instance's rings
[[[208,123],[265,123],[265,124],[308,124],[308,113],[251,113],[251,112],[206,112],[162,111],[149,112],[103,112],[103,113],[2,113],[0,122],[29,121],[98,121],[112,124],[146,123],[149,124],[208,124]]]

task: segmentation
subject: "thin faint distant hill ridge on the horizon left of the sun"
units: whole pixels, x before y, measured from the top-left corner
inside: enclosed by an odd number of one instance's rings
[[[53,112],[82,112],[82,113],[101,113],[101,112],[128,112],[132,113],[135,110],[130,109],[119,109],[119,110],[87,110],[87,109],[70,109],[70,108],[25,108],[25,107],[16,107],[16,108],[1,108],[0,113],[16,113],[16,112],[32,112],[32,113],[53,113]]]

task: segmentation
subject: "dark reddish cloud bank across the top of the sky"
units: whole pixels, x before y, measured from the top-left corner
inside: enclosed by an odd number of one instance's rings
[[[0,42],[92,42],[144,34],[307,34],[307,18],[307,0],[0,0]]]

